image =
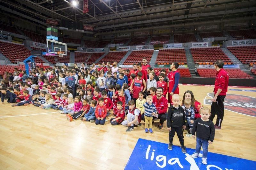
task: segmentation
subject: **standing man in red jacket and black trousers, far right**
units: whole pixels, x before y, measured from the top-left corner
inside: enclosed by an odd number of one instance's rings
[[[217,114],[215,129],[221,129],[221,123],[224,117],[224,99],[226,97],[226,92],[228,91],[228,72],[223,69],[223,60],[217,60],[214,63],[214,68],[217,70],[216,79],[214,84],[214,97],[212,99],[211,105],[211,116],[209,119],[212,121]]]

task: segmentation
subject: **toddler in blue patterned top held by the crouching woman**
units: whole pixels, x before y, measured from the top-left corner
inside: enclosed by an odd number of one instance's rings
[[[188,134],[186,135],[187,137],[192,136],[191,133],[192,133],[193,123],[195,119],[195,111],[194,111],[194,108],[191,106],[191,104],[192,102],[190,99],[185,99],[184,104],[182,105],[182,108],[186,115],[186,120],[188,122],[188,128],[190,131],[190,133],[188,132]]]

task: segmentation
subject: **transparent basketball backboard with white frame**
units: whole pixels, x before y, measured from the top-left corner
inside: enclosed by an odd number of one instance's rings
[[[47,41],[47,53],[57,54],[58,52],[64,52],[63,55],[67,55],[67,44],[59,41],[46,39]]]

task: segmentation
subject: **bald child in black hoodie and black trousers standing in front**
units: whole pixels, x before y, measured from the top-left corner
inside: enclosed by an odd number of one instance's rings
[[[184,146],[184,137],[182,128],[186,128],[186,116],[183,108],[179,105],[180,95],[172,95],[173,105],[169,107],[167,114],[167,129],[169,130],[169,145],[168,149],[172,150],[172,141],[175,131],[180,140],[180,148],[182,153],[187,153],[186,146]]]

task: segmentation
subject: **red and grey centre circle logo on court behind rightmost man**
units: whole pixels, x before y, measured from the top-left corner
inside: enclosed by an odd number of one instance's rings
[[[214,93],[208,93],[204,104],[212,104]],[[224,107],[239,114],[256,117],[256,98],[244,95],[227,94],[224,99]]]

